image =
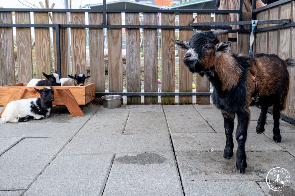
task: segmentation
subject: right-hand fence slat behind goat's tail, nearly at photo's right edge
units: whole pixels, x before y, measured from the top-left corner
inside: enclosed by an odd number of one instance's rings
[[[281,12],[280,12],[280,19],[293,19],[293,2],[289,2],[286,4],[281,5]],[[279,36],[279,57],[282,59],[291,58],[292,56],[292,27],[291,28],[284,28],[280,29],[280,36]],[[294,36],[294,35],[293,35]],[[288,68],[289,75],[290,75],[290,82],[294,83],[294,81],[291,81],[291,68]],[[289,86],[289,88],[293,87],[293,84]],[[290,88],[290,89],[291,89]],[[283,113],[289,115],[290,107],[294,107],[294,102],[291,103],[291,90],[288,93],[287,96],[287,103],[286,103],[286,109],[283,110]],[[293,109],[293,108],[292,108]]]

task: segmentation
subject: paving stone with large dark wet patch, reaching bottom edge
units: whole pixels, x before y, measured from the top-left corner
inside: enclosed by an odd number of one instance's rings
[[[172,152],[116,154],[103,195],[183,195]]]

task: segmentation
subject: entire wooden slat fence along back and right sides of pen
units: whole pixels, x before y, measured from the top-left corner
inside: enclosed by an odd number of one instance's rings
[[[293,3],[288,3],[289,5]],[[281,12],[284,5],[280,6]],[[286,10],[287,10],[286,6]],[[291,9],[292,8],[292,9]],[[293,15],[293,6],[289,6],[290,18]],[[85,10],[87,12],[87,10]],[[160,11],[160,10],[159,10]],[[259,13],[258,19],[269,19],[269,11],[267,10],[267,18],[265,14]],[[292,15],[293,14],[293,15]],[[101,12],[89,12],[88,22],[92,25],[101,25],[103,23],[103,13]],[[260,16],[261,15],[261,16]],[[16,24],[30,24],[30,12],[15,12]],[[48,12],[34,12],[35,24],[48,24],[49,17]],[[273,15],[272,15],[273,17]],[[279,16],[279,18],[285,18]],[[66,12],[52,12],[53,24],[66,24]],[[218,13],[215,14],[215,21],[228,21],[228,14]],[[244,20],[250,20],[250,14],[243,13]],[[144,13],[143,25],[157,25],[157,13]],[[189,26],[193,20],[193,13],[179,13],[179,25]],[[210,13],[198,13],[197,22],[211,22]],[[139,25],[139,13],[125,13],[126,25]],[[84,12],[70,12],[70,24],[85,24]],[[0,10],[0,23],[12,24],[12,12]],[[121,13],[110,12],[107,13],[108,25],[121,25]],[[162,13],[162,25],[175,26],[175,13]],[[244,27],[248,28],[248,27]],[[259,27],[258,27],[259,28]],[[36,78],[43,78],[42,72],[49,73],[52,68],[51,61],[51,43],[50,43],[50,31],[49,28],[35,27],[35,51],[36,51],[36,64],[37,75]],[[61,76],[67,77],[69,74],[68,69],[68,31],[66,28],[60,28],[60,59],[61,59]],[[144,92],[157,92],[158,91],[158,38],[157,29],[143,29],[143,57],[144,57]],[[276,30],[276,33],[280,35],[288,34],[288,40],[283,36],[280,38],[279,44],[282,49],[278,49],[277,53],[283,57],[294,57],[294,45],[293,50],[286,48],[290,47],[292,43],[292,30],[284,29],[283,31]],[[269,35],[269,32],[264,32]],[[263,51],[265,48],[269,49],[269,41],[264,40],[266,37],[271,39],[271,35],[265,36],[262,33],[256,34],[255,52],[267,52]],[[275,32],[273,32],[275,36]],[[276,34],[276,35],[277,35]],[[193,35],[193,29],[180,29],[179,40],[189,41]],[[109,92],[123,92],[123,73],[122,73],[122,29],[121,28],[108,28],[108,76],[109,76]],[[18,62],[18,81],[28,82],[32,77],[32,50],[31,50],[31,28],[30,27],[17,27],[17,62]],[[227,41],[227,34],[220,37],[222,41]],[[0,85],[7,85],[15,83],[14,74],[14,51],[13,51],[13,33],[12,27],[0,27]],[[175,29],[162,29],[162,92],[175,92],[175,46],[173,43],[175,39]],[[232,44],[233,52],[249,51],[249,33],[238,33],[237,44]],[[258,44],[258,41],[263,40],[263,44]],[[72,57],[72,73],[84,73],[86,74],[86,38],[85,28],[71,28],[71,57]],[[293,36],[294,43],[294,36]],[[275,43],[273,43],[275,44]],[[289,44],[289,45],[288,45]],[[283,46],[282,46],[283,45]],[[258,47],[260,46],[260,47]],[[291,45],[292,46],[292,45]],[[53,53],[54,53],[54,65],[56,65],[56,37],[55,28],[53,28]],[[274,46],[275,48],[275,46]],[[286,49],[285,49],[286,48]],[[90,74],[91,82],[96,84],[96,92],[105,92],[105,77],[104,77],[104,39],[103,28],[89,28],[89,49],[90,49]],[[288,54],[286,53],[288,52]],[[293,51],[293,54],[292,52]],[[273,53],[273,52],[271,52]],[[184,52],[179,51],[179,59],[182,59]],[[126,29],[126,62],[127,62],[127,92],[140,92],[140,34],[139,29]],[[288,99],[288,111],[293,104],[294,108],[294,70],[293,83],[290,85],[290,93]],[[291,72],[290,72],[291,73]],[[196,83],[196,92],[209,92],[210,83],[207,78],[201,78],[197,76],[196,81],[192,79],[192,73],[188,71],[183,62],[179,61],[179,92],[192,92],[192,83]],[[292,79],[291,79],[292,80]],[[290,96],[291,95],[291,96]],[[140,96],[127,96],[127,104],[140,104]],[[192,103],[192,96],[179,96],[179,104]],[[144,104],[157,104],[158,96],[145,96]],[[175,96],[161,96],[162,104],[175,104]],[[209,96],[197,96],[196,103],[209,104]]]

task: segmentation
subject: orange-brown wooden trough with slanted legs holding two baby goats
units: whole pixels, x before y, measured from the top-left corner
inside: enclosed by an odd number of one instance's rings
[[[44,86],[35,86],[42,89]],[[85,86],[53,86],[53,105],[65,105],[72,116],[85,116],[79,105],[86,105],[95,98],[95,83],[85,83]],[[4,105],[0,115],[2,115],[6,105],[10,101],[37,98],[34,87],[27,87],[27,83],[17,83],[0,86],[0,105]]]

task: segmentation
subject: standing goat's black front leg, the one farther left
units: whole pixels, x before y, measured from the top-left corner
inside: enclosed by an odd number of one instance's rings
[[[223,157],[226,159],[229,159],[234,155],[232,151],[232,149],[234,148],[234,142],[232,140],[232,132],[234,130],[235,115],[229,114],[225,111],[222,111],[222,115],[224,118],[224,130],[225,130],[225,136],[226,136],[226,144],[224,148]]]

